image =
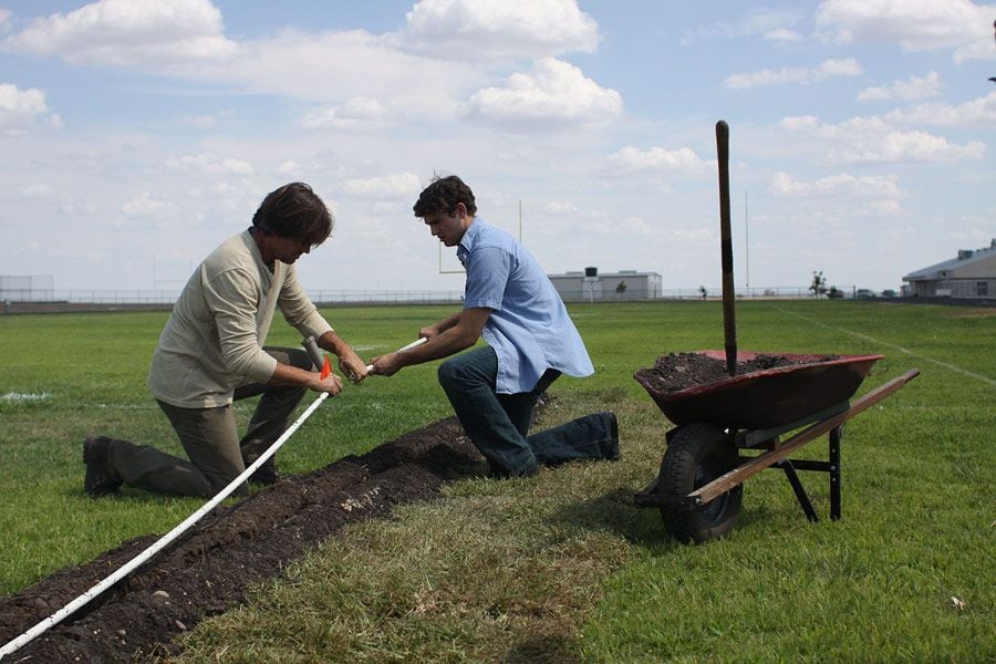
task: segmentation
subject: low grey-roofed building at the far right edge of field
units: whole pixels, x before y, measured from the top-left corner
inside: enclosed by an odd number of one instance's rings
[[[910,272],[903,294],[920,298],[996,298],[996,239],[983,249],[959,249],[957,258]]]

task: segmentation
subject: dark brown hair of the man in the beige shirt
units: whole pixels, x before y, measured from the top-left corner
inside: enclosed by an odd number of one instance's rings
[[[332,214],[322,199],[304,183],[290,183],[273,189],[252,215],[252,227],[318,246],[332,235]]]

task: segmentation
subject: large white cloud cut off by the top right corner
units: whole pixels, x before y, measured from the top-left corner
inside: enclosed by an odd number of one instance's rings
[[[963,50],[987,39],[987,52],[996,56],[994,10],[968,0],[824,0],[816,27],[837,43],[893,42],[909,51]]]

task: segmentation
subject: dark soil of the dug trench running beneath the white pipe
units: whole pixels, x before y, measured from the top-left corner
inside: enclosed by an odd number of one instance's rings
[[[251,585],[279,577],[289,561],[344,525],[386,516],[394,505],[432,499],[445,483],[486,471],[484,457],[450,417],[313,474],[282,478],[235,506],[216,508],[10,660],[133,662],[168,655],[176,652],[170,642],[177,635],[240,603]],[[158,537],[126,541],[0,599],[0,643],[61,610]]]

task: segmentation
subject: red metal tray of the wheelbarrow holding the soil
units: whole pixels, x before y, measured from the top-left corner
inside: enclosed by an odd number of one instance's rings
[[[694,351],[720,362],[724,351]],[[760,353],[741,351],[737,362],[748,362],[758,355],[786,357],[788,366],[738,374],[678,390],[662,392],[651,385],[643,369],[633,374],[654,400],[664,415],[676,425],[707,422],[720,428],[765,429],[805,419],[836,404],[849,400],[872,364],[884,355],[828,355]]]

